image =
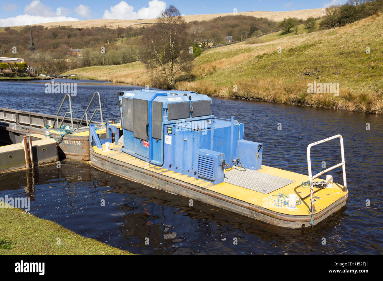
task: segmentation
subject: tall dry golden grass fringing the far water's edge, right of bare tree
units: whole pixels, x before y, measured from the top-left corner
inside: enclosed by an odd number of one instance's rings
[[[181,91],[197,91],[215,97],[231,97],[266,102],[286,104],[303,104],[319,108],[333,108],[349,111],[383,113],[382,94],[371,94],[363,91],[351,92],[340,88],[339,96],[333,94],[309,94],[307,84],[309,80],[284,83],[277,78],[251,79],[236,81],[237,92],[228,86],[214,86],[209,80],[195,82],[179,82],[177,89]]]

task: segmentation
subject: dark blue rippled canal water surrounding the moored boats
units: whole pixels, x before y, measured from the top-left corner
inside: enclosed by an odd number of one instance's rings
[[[77,83],[74,117],[82,117],[92,94],[99,91],[104,120],[118,120],[116,92],[141,88]],[[0,107],[56,114],[62,97],[45,94],[42,82],[0,83]],[[313,229],[281,229],[196,201],[190,207],[189,198],[74,161],[62,162],[60,169],[49,165],[33,173],[0,174],[0,197],[26,194],[32,198],[31,213],[39,218],[133,253],[383,253],[383,115],[230,99],[213,99],[212,111],[221,118],[235,115],[245,123],[245,139],[264,143],[262,164],[301,174],[307,174],[309,143],[342,134],[349,187],[346,207]],[[322,161],[326,167],[337,164],[339,139],[314,146],[311,154],[313,173],[322,170]],[[342,182],[341,169],[332,174]],[[105,207],[100,206],[102,199]],[[370,208],[365,208],[366,200]]]

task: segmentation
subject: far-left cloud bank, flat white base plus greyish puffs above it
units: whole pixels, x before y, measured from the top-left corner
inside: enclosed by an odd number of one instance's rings
[[[18,15],[11,18],[1,18],[0,26],[17,26],[36,23],[51,23],[55,21],[78,21],[77,18],[67,17],[70,13],[69,8],[60,7],[60,13],[53,10],[50,6],[44,5],[40,0],[33,0],[24,8],[25,15]]]

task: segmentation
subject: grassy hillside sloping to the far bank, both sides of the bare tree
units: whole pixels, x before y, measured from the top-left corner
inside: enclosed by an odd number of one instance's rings
[[[346,26],[269,34],[203,52],[176,88],[218,97],[383,113],[383,15]],[[366,48],[370,51],[366,52]],[[278,52],[278,49],[282,52]],[[80,68],[99,80],[153,84],[141,62]],[[307,93],[308,83],[339,83],[339,96]]]

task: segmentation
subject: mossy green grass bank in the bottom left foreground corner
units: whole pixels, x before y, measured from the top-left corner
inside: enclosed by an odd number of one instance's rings
[[[18,208],[0,208],[1,255],[129,255],[66,229],[39,219]],[[57,238],[60,243],[57,245]]]

